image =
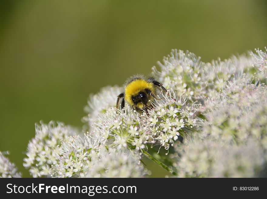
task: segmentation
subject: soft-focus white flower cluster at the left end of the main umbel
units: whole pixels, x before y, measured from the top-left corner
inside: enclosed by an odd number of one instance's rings
[[[35,124],[35,137],[27,147],[27,158],[24,158],[23,166],[29,168],[33,177],[49,177],[51,167],[58,161],[58,146],[62,140],[76,134],[69,126],[61,122],[51,121],[49,124]]]

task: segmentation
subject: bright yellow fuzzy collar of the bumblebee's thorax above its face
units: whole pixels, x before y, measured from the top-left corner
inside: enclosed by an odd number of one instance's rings
[[[132,101],[132,96],[137,95],[137,93],[141,91],[145,91],[145,89],[149,89],[154,93],[153,84],[147,82],[143,79],[137,79],[130,82],[125,88],[125,100],[132,106],[134,102]]]

